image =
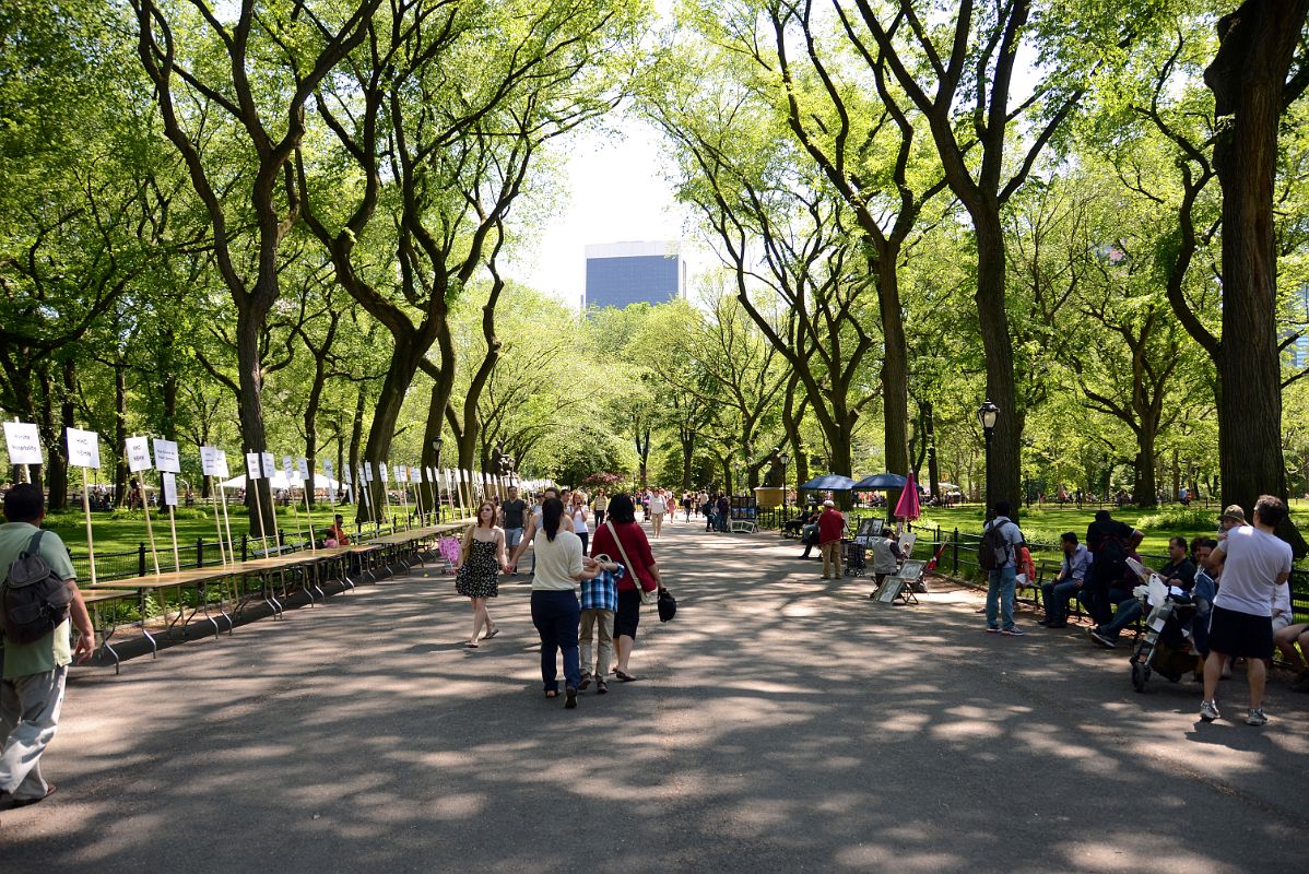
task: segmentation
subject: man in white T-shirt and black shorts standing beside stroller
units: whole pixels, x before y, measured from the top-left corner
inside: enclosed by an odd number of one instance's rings
[[[1291,547],[1274,531],[1287,516],[1287,505],[1263,495],[1254,505],[1254,526],[1229,530],[1210,553],[1210,568],[1223,567],[1223,582],[1213,598],[1210,619],[1210,656],[1204,661],[1204,700],[1200,718],[1219,718],[1217,691],[1223,665],[1229,657],[1244,656],[1250,682],[1250,709],[1246,725],[1263,725],[1264,659],[1272,658],[1272,602],[1276,590],[1291,577]]]

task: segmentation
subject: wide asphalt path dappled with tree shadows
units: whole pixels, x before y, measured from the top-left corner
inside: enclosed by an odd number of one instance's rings
[[[1198,686],[1136,693],[1081,632],[986,635],[973,590],[880,604],[702,527],[654,543],[681,607],[643,616],[639,679],[576,710],[542,695],[521,578],[476,650],[453,578],[415,573],[80,669],[59,792],[3,814],[0,870],[1304,870],[1284,675],[1267,726],[1206,725]]]

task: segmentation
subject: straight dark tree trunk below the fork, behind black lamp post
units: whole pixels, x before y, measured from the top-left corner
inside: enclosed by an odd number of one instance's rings
[[[991,438],[991,470],[986,476],[991,493],[986,496],[986,501],[992,505],[1008,501],[1017,513],[1021,498],[1018,444],[1022,437],[1022,416],[1013,383],[1013,338],[1009,335],[1009,319],[1004,309],[1004,232],[999,207],[994,203],[980,204],[978,209],[970,209],[970,213],[977,229],[978,287],[974,301],[986,352],[986,399],[1000,408]]]

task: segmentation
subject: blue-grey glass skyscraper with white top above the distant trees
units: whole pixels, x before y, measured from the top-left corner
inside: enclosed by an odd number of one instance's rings
[[[686,262],[675,242],[586,246],[586,309],[664,304],[686,289]]]

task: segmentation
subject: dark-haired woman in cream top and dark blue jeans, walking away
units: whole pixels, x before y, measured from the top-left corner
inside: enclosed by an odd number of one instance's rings
[[[577,582],[600,573],[594,561],[583,563],[581,539],[563,525],[564,504],[551,497],[541,508],[541,530],[537,538],[537,574],[531,578],[531,624],[541,635],[541,682],[546,697],[559,697],[556,656],[564,657],[564,707],[577,707],[577,684],[581,666],[577,653]]]

